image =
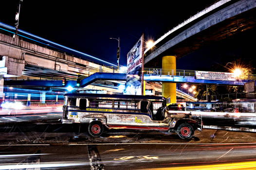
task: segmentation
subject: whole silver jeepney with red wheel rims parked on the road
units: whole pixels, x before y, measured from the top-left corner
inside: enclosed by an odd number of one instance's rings
[[[89,124],[88,132],[94,137],[104,127],[176,132],[182,139],[201,131],[202,122],[192,119],[190,112],[166,108],[166,99],[159,96],[67,93],[62,123]]]

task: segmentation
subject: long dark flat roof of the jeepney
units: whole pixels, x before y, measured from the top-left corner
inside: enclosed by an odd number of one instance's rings
[[[121,94],[92,94],[92,93],[66,93],[64,96],[70,97],[84,97],[84,98],[119,98],[119,99],[150,99],[164,101],[165,98],[161,96],[151,95],[121,95]]]

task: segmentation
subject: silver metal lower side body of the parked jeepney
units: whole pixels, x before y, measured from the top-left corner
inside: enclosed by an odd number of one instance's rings
[[[162,121],[152,120],[150,112],[142,113],[140,107],[138,109],[86,107],[86,110],[80,110],[77,106],[79,100],[78,98],[76,106],[68,107],[68,119],[73,119],[74,123],[90,123],[95,119],[99,119],[105,125],[169,126],[171,123],[170,118]],[[89,100],[87,100],[87,106],[89,104]]]

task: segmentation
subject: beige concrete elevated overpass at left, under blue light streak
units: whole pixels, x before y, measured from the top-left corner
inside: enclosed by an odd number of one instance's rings
[[[0,34],[0,56],[10,76],[73,77],[89,74],[101,65],[67,55],[65,52],[50,50],[47,47],[13,39]]]

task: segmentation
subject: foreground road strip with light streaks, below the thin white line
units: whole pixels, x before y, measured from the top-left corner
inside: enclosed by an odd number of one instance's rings
[[[0,145],[0,170],[244,170],[256,167],[255,148],[255,143]]]

